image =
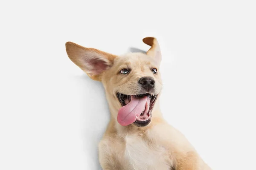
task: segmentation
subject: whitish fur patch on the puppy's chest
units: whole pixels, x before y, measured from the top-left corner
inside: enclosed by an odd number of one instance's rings
[[[126,136],[125,159],[134,170],[169,170],[167,151],[163,146],[143,140],[138,136]]]

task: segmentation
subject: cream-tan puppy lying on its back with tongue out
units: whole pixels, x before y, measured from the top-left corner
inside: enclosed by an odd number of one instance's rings
[[[162,116],[161,51],[156,38],[144,53],[116,56],[66,43],[68,57],[106,91],[111,120],[99,142],[103,170],[211,170],[188,140]]]

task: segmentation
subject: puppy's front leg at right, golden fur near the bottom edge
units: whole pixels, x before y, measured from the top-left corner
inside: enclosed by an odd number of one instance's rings
[[[164,132],[164,133],[163,133]],[[169,152],[168,164],[175,170],[211,170],[185,136],[168,124],[156,125],[148,136]],[[163,138],[164,136],[164,138]]]

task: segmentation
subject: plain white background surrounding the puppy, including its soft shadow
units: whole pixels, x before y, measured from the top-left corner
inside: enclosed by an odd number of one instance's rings
[[[104,89],[65,42],[124,54],[162,48],[166,120],[215,170],[256,170],[253,0],[1,1],[0,169],[100,170]]]

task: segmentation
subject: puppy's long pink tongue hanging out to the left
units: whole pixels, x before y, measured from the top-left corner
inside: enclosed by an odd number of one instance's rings
[[[117,114],[117,122],[122,126],[127,126],[136,121],[136,116],[145,110],[145,106],[149,97],[137,99],[131,96],[131,102],[119,109]]]

